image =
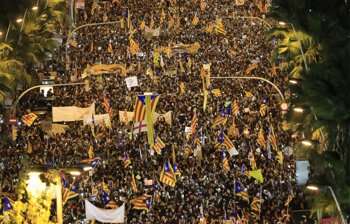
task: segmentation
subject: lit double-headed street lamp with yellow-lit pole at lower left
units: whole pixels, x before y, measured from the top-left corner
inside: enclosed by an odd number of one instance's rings
[[[30,172],[28,173],[29,176],[33,175],[39,175],[41,173],[46,173],[49,170],[52,170],[55,168],[51,167],[50,165],[44,165],[44,164],[34,164],[33,166],[30,166]],[[57,209],[57,223],[62,224],[62,182],[61,182],[61,172],[65,171],[72,175],[80,175],[81,173],[84,173],[87,170],[92,169],[90,164],[73,164],[70,167],[63,167],[61,169],[57,170],[57,176],[56,176],[56,209]]]

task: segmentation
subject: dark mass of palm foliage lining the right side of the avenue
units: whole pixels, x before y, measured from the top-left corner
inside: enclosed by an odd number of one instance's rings
[[[308,71],[302,61],[299,44],[292,28],[278,27],[271,30],[271,37],[279,39],[273,60],[284,54],[283,68],[289,75],[303,79],[302,84],[288,84],[292,95],[286,99],[289,108],[305,106],[303,113],[287,111],[282,117],[287,127],[300,136],[312,138],[328,146],[314,148],[301,143],[295,145],[296,156],[309,158],[314,169],[313,181],[327,182],[338,198],[344,216],[349,215],[350,197],[350,94],[349,94],[349,3],[335,0],[288,1],[276,0],[273,13],[276,21],[294,24],[305,52]],[[317,119],[316,119],[317,117]],[[322,128],[325,141],[320,135]],[[318,209],[330,217],[339,215],[329,191],[310,194],[311,213]]]

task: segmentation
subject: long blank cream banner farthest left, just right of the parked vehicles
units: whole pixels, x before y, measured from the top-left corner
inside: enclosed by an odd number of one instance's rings
[[[90,107],[52,107],[52,122],[82,121],[84,114],[95,115],[95,103]]]

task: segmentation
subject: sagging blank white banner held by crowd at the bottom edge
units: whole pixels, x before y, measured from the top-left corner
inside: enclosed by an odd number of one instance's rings
[[[97,208],[89,201],[85,200],[86,219],[95,220],[103,223],[123,223],[124,222],[125,205],[121,205],[118,209],[102,209]]]

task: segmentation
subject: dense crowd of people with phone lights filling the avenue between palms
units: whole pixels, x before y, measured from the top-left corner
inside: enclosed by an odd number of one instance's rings
[[[89,107],[94,102],[96,105],[96,114],[107,114],[102,89],[97,88],[96,76],[88,75],[81,78],[87,64],[93,67],[96,64],[138,64],[141,66],[132,66],[125,75],[120,73],[102,74],[103,88],[106,96],[111,99],[113,108],[113,117],[111,117],[111,127],[97,126],[97,131],[102,133],[102,137],[93,138],[94,153],[100,157],[99,164],[94,168],[92,179],[98,184],[102,181],[110,188],[110,197],[119,206],[125,203],[125,222],[126,223],[199,223],[200,207],[203,207],[204,216],[207,223],[223,223],[224,214],[228,218],[231,211],[238,214],[243,223],[294,223],[290,215],[292,210],[304,209],[305,200],[296,189],[296,168],[295,158],[292,155],[283,154],[283,164],[277,160],[277,152],[271,149],[271,158],[268,152],[257,142],[257,136],[260,129],[267,140],[268,132],[272,126],[278,142],[278,151],[282,151],[286,146],[293,146],[297,142],[297,137],[292,137],[293,131],[287,129],[281,120],[281,110],[279,108],[280,95],[270,84],[258,79],[210,79],[210,84],[214,89],[219,89],[221,96],[212,93],[200,76],[201,63],[211,64],[211,77],[260,77],[273,82],[278,86],[282,94],[289,95],[288,89],[283,87],[286,71],[276,69],[276,74],[272,74],[273,62],[270,59],[273,52],[273,45],[267,42],[269,27],[267,23],[273,25],[274,21],[265,18],[266,12],[260,12],[257,6],[258,1],[247,0],[243,6],[235,5],[236,1],[208,1],[205,10],[200,9],[200,1],[121,1],[114,2],[112,5],[106,4],[107,21],[119,21],[125,13],[127,7],[130,10],[131,20],[139,29],[141,22],[146,18],[146,26],[149,27],[151,17],[154,18],[154,27],[161,26],[159,36],[154,36],[147,40],[143,30],[136,31],[132,38],[138,39],[140,52],[144,56],[132,55],[130,62],[127,57],[130,32],[127,28],[121,28],[120,24],[105,24],[99,26],[86,26],[79,29],[75,34],[77,47],[72,45],[68,48],[69,71],[66,71],[65,65],[65,46],[59,46],[53,56],[52,70],[57,71],[55,82],[71,82],[73,75],[73,62],[77,65],[76,82],[89,80],[90,91],[86,92],[84,86],[65,86],[54,87],[49,95],[55,96],[52,103],[54,107]],[[162,9],[166,13],[165,21],[168,21],[169,7],[179,6],[180,27],[174,29],[169,24],[160,24]],[[97,15],[91,15],[91,1],[85,1],[85,12],[88,18],[84,21],[83,13],[79,12],[79,21],[76,26],[83,24],[102,22],[103,5],[98,9]],[[264,6],[264,5],[263,5]],[[197,25],[191,23],[196,11],[199,14]],[[264,21],[257,19],[222,19],[227,34],[223,35],[215,31],[207,31],[206,27],[210,21],[215,21],[215,15],[219,16],[256,16],[265,18]],[[125,18],[124,18],[125,20]],[[126,26],[126,24],[125,24]],[[127,31],[127,32],[126,32]],[[68,30],[63,30],[65,43],[68,37]],[[246,38],[242,36],[246,35]],[[225,39],[224,39],[225,38]],[[155,46],[166,47],[168,41],[176,43],[200,44],[197,52],[181,52],[184,71],[180,71],[179,62],[177,62],[177,52],[168,58],[162,54],[163,65],[156,66],[159,72],[157,83],[154,78],[147,74],[147,69],[153,69],[153,53]],[[226,42],[227,40],[227,42]],[[109,52],[108,46],[111,42],[113,55]],[[91,51],[93,44],[93,51]],[[237,45],[235,48],[234,45]],[[101,51],[98,50],[101,47]],[[235,51],[236,55],[229,54],[228,50]],[[191,62],[191,66],[188,62]],[[253,62],[252,62],[253,61]],[[252,64],[257,63],[257,68],[250,73],[246,69]],[[93,68],[92,68],[93,69]],[[85,69],[86,70],[86,69]],[[176,75],[167,75],[166,71],[177,70]],[[43,71],[44,72],[44,71]],[[139,85],[137,87],[127,88],[126,77],[137,76]],[[80,78],[79,78],[80,77]],[[181,77],[184,81],[185,93],[180,93]],[[204,87],[203,87],[204,85]],[[203,109],[204,91],[208,89],[207,106]],[[248,97],[246,92],[253,94],[254,97]],[[172,121],[168,123],[160,117],[153,124],[154,130],[165,143],[161,154],[150,154],[149,146],[145,152],[145,142],[147,142],[147,132],[141,132],[138,135],[130,137],[130,130],[123,122],[119,120],[119,112],[126,109],[133,111],[133,101],[125,99],[125,96],[134,97],[143,95],[145,92],[161,94],[156,106],[156,112],[164,114],[172,111]],[[267,100],[267,115],[261,116],[259,108],[263,97]],[[16,108],[16,116],[21,117],[30,113],[41,97],[40,91],[23,97]],[[230,156],[226,149],[228,165],[230,171],[226,172],[222,166],[222,151],[215,147],[215,139],[221,125],[212,126],[215,118],[220,114],[221,105],[226,101],[237,99],[239,112],[230,114],[227,122],[224,124],[224,132],[232,140],[233,145],[239,152],[238,155]],[[245,110],[249,108],[249,110]],[[184,158],[183,139],[186,138],[186,127],[190,127],[193,117],[193,109],[196,109],[198,117],[197,130],[200,131],[202,143],[203,160],[191,154],[189,158]],[[235,120],[233,117],[235,116]],[[268,119],[267,119],[268,116]],[[7,196],[16,199],[16,176],[20,172],[20,156],[27,155],[29,164],[34,162],[43,162],[45,157],[52,161],[55,159],[58,167],[66,167],[71,164],[79,163],[80,160],[89,158],[87,149],[89,148],[91,127],[83,124],[83,121],[59,122],[68,127],[62,133],[54,133],[54,137],[44,141],[44,133],[41,130],[41,122],[45,119],[52,119],[52,114],[35,121],[30,127],[26,124],[18,124],[18,137],[15,146],[12,145],[12,134],[10,126],[6,123],[1,124],[2,135],[6,135],[6,144],[1,151],[0,161],[4,162],[5,168],[1,169],[2,195],[1,204]],[[238,128],[238,134],[235,136],[229,134],[229,129],[235,122]],[[132,125],[132,121],[130,124]],[[246,132],[248,130],[248,132]],[[121,132],[124,131],[122,148],[118,149]],[[193,138],[190,138],[188,144],[193,147]],[[28,141],[32,147],[28,152]],[[267,143],[267,142],[266,142]],[[248,171],[255,168],[250,166],[248,159],[248,145],[251,145],[254,153],[257,168],[261,169],[263,182],[257,181],[254,177],[247,178],[241,174],[242,165],[247,167]],[[176,154],[176,166],[181,172],[177,177],[175,187],[164,185],[160,182],[160,172],[164,162],[168,159],[172,161],[172,147],[174,145]],[[131,158],[132,168],[124,168],[124,149]],[[257,151],[257,149],[260,149]],[[140,158],[140,152],[143,155]],[[146,155],[146,156],[145,156]],[[136,180],[137,192],[130,190],[131,172],[139,175],[141,178]],[[63,223],[81,223],[85,217],[85,211],[82,201],[86,198],[90,200],[91,196],[91,178],[86,180],[87,175],[80,175],[77,178],[79,196],[69,199],[63,207]],[[131,199],[141,195],[153,194],[154,185],[145,185],[145,179],[152,179],[158,182],[160,201],[152,203],[150,212],[133,209],[130,203]],[[72,175],[66,174],[68,184],[73,182]],[[249,203],[241,196],[234,196],[234,180],[239,180],[246,187],[249,195]],[[48,181],[44,179],[43,181]],[[288,197],[288,186],[292,186],[295,197],[289,203],[288,208],[285,202]],[[253,210],[250,203],[259,189],[262,189],[262,199],[260,212]],[[104,208],[102,187],[98,184],[99,197],[92,203]],[[124,200],[121,200],[123,198]],[[53,200],[55,203],[55,200]],[[305,205],[306,206],[306,205]],[[234,208],[233,208],[234,207]],[[3,210],[3,208],[1,208]],[[289,209],[289,212],[287,212]],[[51,207],[50,221],[55,221],[55,204]],[[288,215],[287,215],[288,214]],[[98,221],[96,221],[98,223]],[[305,223],[306,221],[304,221]]]

